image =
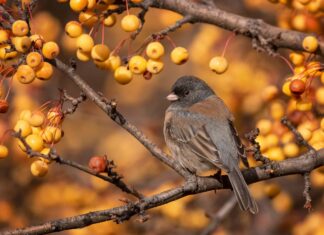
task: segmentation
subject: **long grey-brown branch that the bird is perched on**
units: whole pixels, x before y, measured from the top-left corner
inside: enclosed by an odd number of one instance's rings
[[[324,149],[317,152],[317,157],[312,158],[309,152],[296,158],[289,158],[281,162],[271,163],[271,167],[275,169],[269,173],[263,167],[246,169],[242,173],[248,184],[258,181],[264,181],[275,177],[282,177],[292,174],[303,174],[310,172],[313,169],[324,165]],[[215,189],[229,189],[230,183],[226,175],[222,176],[221,184],[213,177],[198,177],[197,185],[186,182],[184,185],[155,194],[150,197],[143,198],[137,202],[129,202],[124,206],[114,207],[108,210],[89,212],[82,215],[67,217],[64,219],[53,220],[41,225],[31,226],[22,229],[3,232],[3,235],[36,235],[47,234],[53,232],[64,231],[68,229],[83,228],[91,224],[100,223],[103,221],[113,220],[121,223],[130,219],[136,214],[141,214],[143,211],[161,206],[179,198],[202,193]]]

